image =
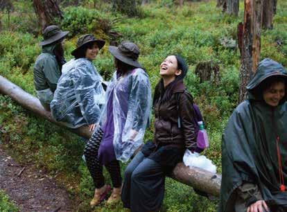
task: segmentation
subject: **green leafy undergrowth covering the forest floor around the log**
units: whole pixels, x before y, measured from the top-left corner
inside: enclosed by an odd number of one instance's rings
[[[35,15],[33,1],[15,0],[0,12],[0,75],[35,96],[33,64],[41,48],[41,26]],[[237,25],[243,21],[244,5],[240,1],[238,17],[216,8],[216,1],[189,1],[178,6],[171,0],[155,0],[137,8],[128,17],[114,12],[108,1],[61,1],[62,30],[70,33],[65,41],[65,58],[72,58],[77,38],[94,33],[107,44],[123,40],[135,42],[155,88],[159,80],[159,64],[167,55],[179,54],[189,64],[185,84],[200,106],[209,134],[210,147],[203,152],[221,172],[221,135],[233,109],[238,104],[241,64],[238,50]],[[101,50],[94,64],[109,80],[114,72],[112,55],[107,46]],[[272,58],[287,67],[287,1],[277,1],[273,28],[261,33],[261,59]],[[195,74],[198,64],[208,62],[209,80]],[[152,125],[153,126],[153,125]],[[152,139],[150,127],[145,141]],[[26,111],[7,96],[0,95],[0,143],[21,164],[35,164],[69,191],[78,211],[123,211],[122,204],[104,204],[90,209],[94,193],[92,178],[82,161],[85,143],[67,130],[55,126]],[[125,164],[121,166],[122,173]],[[105,172],[105,175],[107,173]],[[109,177],[107,177],[109,179]],[[2,209],[16,210],[0,191]],[[189,186],[166,180],[166,195],[162,211],[216,211],[218,200],[209,200],[194,193]],[[0,209],[1,209],[0,206]]]

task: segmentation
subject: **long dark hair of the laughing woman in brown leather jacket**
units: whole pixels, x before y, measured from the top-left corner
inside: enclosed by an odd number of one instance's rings
[[[177,69],[182,70],[182,73],[180,76],[175,76],[175,80],[173,82],[169,83],[166,87],[164,87],[164,80],[160,79],[157,85],[155,86],[155,94],[153,96],[153,106],[155,106],[155,103],[157,103],[159,100],[161,103],[165,103],[167,100],[171,98],[171,95],[173,94],[173,89],[175,85],[177,85],[178,82],[183,81],[184,77],[187,73],[187,65],[184,62],[184,59],[180,55],[174,55],[177,60]]]

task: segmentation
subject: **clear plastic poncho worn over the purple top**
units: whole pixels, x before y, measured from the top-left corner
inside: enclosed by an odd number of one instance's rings
[[[109,100],[111,95],[113,95],[114,153],[116,159],[126,162],[134,150],[143,143],[149,120],[151,91],[148,75],[143,69],[134,69],[126,76],[117,78],[115,72],[107,87],[106,99]],[[101,127],[105,125],[107,112],[105,105],[101,116]]]

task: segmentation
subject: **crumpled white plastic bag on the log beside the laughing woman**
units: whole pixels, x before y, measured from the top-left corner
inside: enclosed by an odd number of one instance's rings
[[[212,161],[207,159],[204,155],[200,155],[198,152],[192,153],[190,150],[185,150],[183,162],[185,166],[198,167],[208,170],[211,173],[216,173],[216,166],[212,164]]]

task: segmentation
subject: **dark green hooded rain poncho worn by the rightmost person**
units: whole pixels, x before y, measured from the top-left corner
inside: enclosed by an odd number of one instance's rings
[[[223,178],[218,211],[232,212],[234,191],[243,182],[259,187],[269,205],[287,206],[287,193],[279,190],[276,139],[279,136],[281,164],[287,184],[287,103],[286,94],[277,107],[267,105],[254,88],[270,76],[287,77],[281,64],[265,59],[247,85],[248,98],[233,112],[223,134]],[[263,91],[262,91],[263,92]]]

